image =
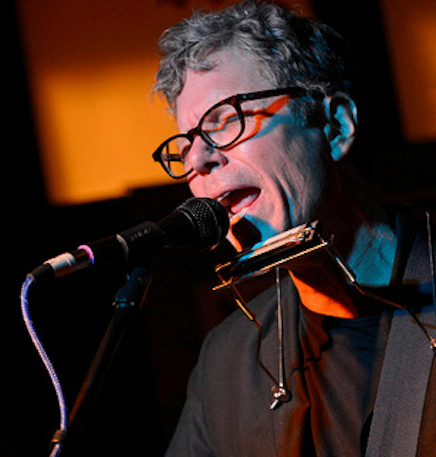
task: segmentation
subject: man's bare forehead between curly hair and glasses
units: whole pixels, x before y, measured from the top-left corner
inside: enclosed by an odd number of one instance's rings
[[[188,69],[183,90],[176,100],[176,120],[182,131],[192,128],[216,102],[237,93],[269,89],[255,58],[238,49],[227,49],[209,57],[208,71]]]

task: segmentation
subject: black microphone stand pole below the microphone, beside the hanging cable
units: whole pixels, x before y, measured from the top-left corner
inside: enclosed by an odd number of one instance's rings
[[[62,456],[75,455],[74,446],[91,411],[92,403],[121,343],[130,317],[144,303],[150,281],[151,276],[147,269],[145,267],[137,267],[128,275],[127,281],[114,298],[115,311],[113,317],[92,360],[85,380],[75,399],[75,404],[71,409],[68,420],[69,430],[66,436],[63,436],[57,430],[50,443],[51,448],[58,442],[62,444],[60,452]],[[69,454],[69,452],[72,453]]]

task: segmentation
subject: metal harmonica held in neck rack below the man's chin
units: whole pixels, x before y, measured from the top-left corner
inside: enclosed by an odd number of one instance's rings
[[[291,228],[242,251],[229,262],[216,265],[215,272],[221,279],[221,284],[213,290],[263,275],[277,266],[328,247],[332,239],[324,240],[316,230],[317,225],[316,221]]]

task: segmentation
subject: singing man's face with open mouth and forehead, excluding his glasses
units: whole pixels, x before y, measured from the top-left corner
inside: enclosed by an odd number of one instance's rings
[[[212,58],[218,61],[214,69],[187,71],[177,99],[182,133],[195,127],[216,102],[272,88],[253,58],[237,50],[221,51]],[[187,168],[193,168],[188,175],[192,193],[221,200],[231,222],[228,238],[237,249],[311,222],[320,203],[326,147],[322,129],[301,126],[284,101],[276,97],[251,102],[253,111],[270,111],[258,117],[257,133],[221,150],[196,137],[186,159]]]

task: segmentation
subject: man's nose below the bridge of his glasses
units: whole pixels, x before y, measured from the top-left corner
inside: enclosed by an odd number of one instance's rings
[[[196,137],[186,157],[186,168],[192,168],[200,175],[208,175],[214,168],[228,163],[224,151],[212,148],[202,138]]]

